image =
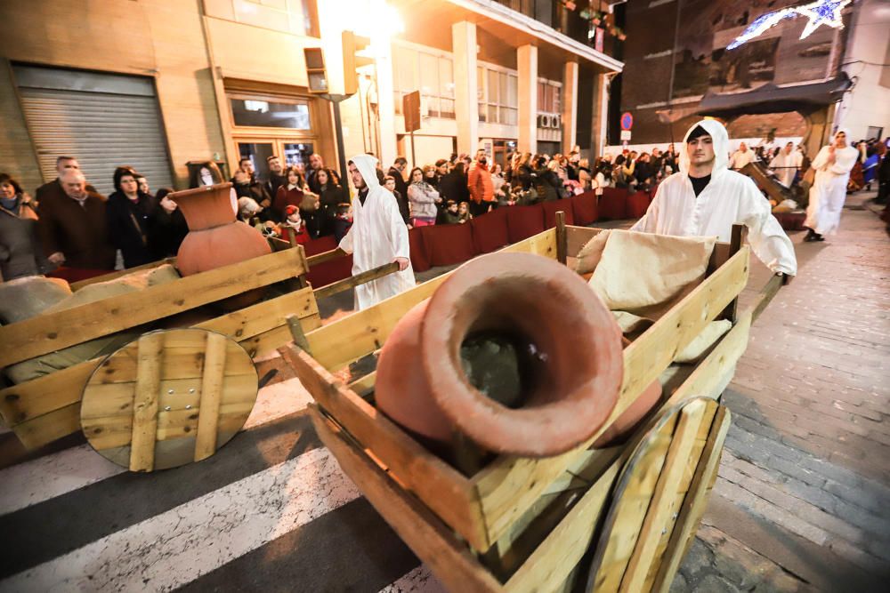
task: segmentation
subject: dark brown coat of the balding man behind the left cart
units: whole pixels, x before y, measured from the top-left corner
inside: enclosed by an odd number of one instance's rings
[[[44,196],[37,206],[44,253],[64,253],[69,268],[114,269],[115,248],[109,241],[105,209],[105,198],[94,192],[87,192],[83,206],[64,193]]]

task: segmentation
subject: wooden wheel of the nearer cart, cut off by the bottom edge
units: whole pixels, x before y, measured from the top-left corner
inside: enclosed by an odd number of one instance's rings
[[[714,485],[729,410],[708,397],[667,409],[621,470],[587,590],[670,588]]]

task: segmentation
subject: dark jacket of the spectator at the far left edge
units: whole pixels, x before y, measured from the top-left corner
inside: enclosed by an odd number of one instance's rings
[[[0,206],[0,281],[45,274],[53,268],[37,237],[37,213],[31,202],[18,196],[12,210]]]

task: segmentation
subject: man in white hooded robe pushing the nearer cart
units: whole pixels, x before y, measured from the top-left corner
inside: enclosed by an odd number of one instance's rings
[[[649,210],[630,229],[729,242],[732,225],[744,224],[756,256],[788,282],[797,274],[794,245],[754,181],[727,167],[729,136],[723,124],[711,119],[693,124],[684,144],[679,172],[659,185]]]

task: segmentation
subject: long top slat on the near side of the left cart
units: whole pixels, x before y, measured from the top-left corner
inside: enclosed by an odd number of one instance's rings
[[[288,249],[0,327],[0,366],[38,357],[109,333],[279,282],[306,271],[303,252]]]

